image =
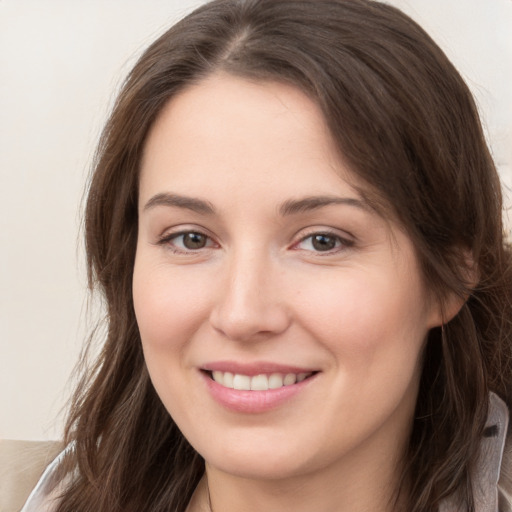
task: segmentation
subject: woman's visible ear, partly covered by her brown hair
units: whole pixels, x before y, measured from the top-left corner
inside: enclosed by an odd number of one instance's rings
[[[473,253],[468,249],[464,249],[461,251],[461,254],[461,265],[459,267],[458,276],[455,278],[457,280],[458,290],[450,289],[444,293],[434,293],[431,327],[445,325],[457,316],[469,299],[471,291],[478,284],[479,272],[473,258]]]

